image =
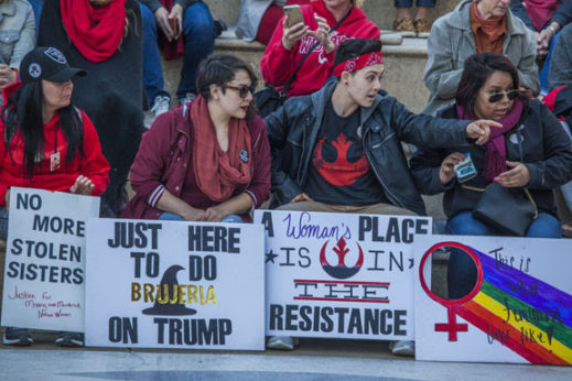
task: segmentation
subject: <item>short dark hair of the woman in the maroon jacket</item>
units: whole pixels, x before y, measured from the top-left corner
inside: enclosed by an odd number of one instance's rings
[[[252,87],[256,87],[255,72],[246,62],[230,54],[212,54],[198,65],[196,88],[205,99],[211,99],[211,85],[220,86],[224,94],[224,85],[233,80],[238,70],[247,72]]]

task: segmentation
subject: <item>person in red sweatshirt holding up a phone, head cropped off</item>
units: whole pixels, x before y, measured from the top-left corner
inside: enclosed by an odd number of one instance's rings
[[[306,53],[320,44],[304,61],[287,96],[310,95],[324,86],[334,69],[336,47],[349,39],[379,39],[379,28],[358,7],[360,0],[313,0],[301,6],[304,22],[288,26],[284,17],[268,44],[260,68],[267,84],[281,90]],[[341,22],[342,21],[342,22]],[[331,29],[339,22],[334,30]]]

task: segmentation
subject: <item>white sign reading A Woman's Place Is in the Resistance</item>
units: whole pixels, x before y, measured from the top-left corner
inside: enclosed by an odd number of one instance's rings
[[[267,335],[413,338],[413,240],[431,218],[256,211]]]

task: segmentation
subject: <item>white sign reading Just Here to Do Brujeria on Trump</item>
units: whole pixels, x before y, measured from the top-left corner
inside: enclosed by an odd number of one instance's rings
[[[263,230],[91,219],[86,346],[265,347]]]

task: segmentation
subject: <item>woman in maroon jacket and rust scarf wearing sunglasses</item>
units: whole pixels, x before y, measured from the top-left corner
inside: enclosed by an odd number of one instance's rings
[[[249,221],[270,192],[270,149],[256,116],[256,77],[227,54],[205,59],[201,95],[161,115],[143,135],[131,167],[136,196],[123,217]]]

